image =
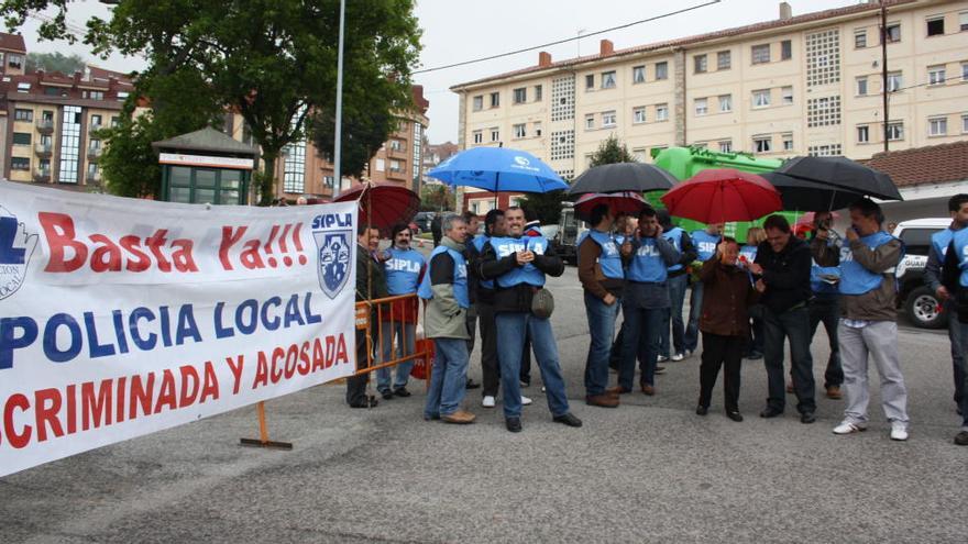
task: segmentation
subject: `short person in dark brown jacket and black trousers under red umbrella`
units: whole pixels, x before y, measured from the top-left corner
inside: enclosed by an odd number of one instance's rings
[[[700,331],[703,333],[703,356],[700,365],[698,415],[710,410],[713,386],[725,364],[723,376],[726,415],[743,421],[739,413],[739,367],[743,362],[743,344],[749,334],[747,309],[756,302],[758,292],[752,276],[736,265],[739,244],[730,237],[723,238],[716,254],[703,264],[700,280],[703,282],[703,308]]]

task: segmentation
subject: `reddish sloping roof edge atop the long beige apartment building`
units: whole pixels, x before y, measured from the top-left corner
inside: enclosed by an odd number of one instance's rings
[[[887,0],[887,5],[890,8],[893,5],[914,3],[917,0]],[[566,66],[574,66],[574,65],[579,65],[582,63],[592,62],[592,60],[603,60],[606,58],[614,58],[614,57],[619,57],[623,55],[632,55],[632,54],[637,54],[637,53],[648,53],[651,51],[658,51],[658,49],[664,49],[664,48],[684,47],[686,45],[693,45],[693,44],[708,42],[708,41],[713,41],[713,40],[741,36],[741,35],[746,35],[746,34],[750,34],[750,33],[755,33],[755,32],[769,31],[769,30],[774,30],[774,29],[781,29],[784,26],[792,26],[792,25],[796,25],[796,24],[811,23],[811,22],[816,22],[816,21],[823,21],[825,19],[833,19],[833,18],[844,16],[844,15],[853,15],[855,13],[864,13],[864,12],[877,11],[877,10],[880,10],[880,3],[876,3],[876,2],[866,3],[865,2],[865,3],[855,4],[855,5],[847,5],[844,8],[834,8],[831,10],[815,11],[813,13],[804,13],[803,15],[792,16],[790,19],[774,19],[772,21],[765,21],[765,22],[760,22],[760,23],[748,24],[745,26],[735,26],[733,29],[708,32],[706,34],[696,34],[693,36],[686,36],[686,37],[681,37],[681,38],[675,38],[675,40],[668,40],[664,42],[656,42],[656,43],[646,44],[646,45],[638,45],[638,46],[629,47],[626,49],[617,49],[614,53],[610,53],[607,55],[601,55],[601,54],[586,55],[586,56],[582,56],[582,57],[559,60],[557,63],[551,63],[546,66],[540,66],[540,65],[529,66],[527,68],[521,68],[519,70],[507,71],[504,74],[498,74],[496,76],[488,76],[488,77],[485,77],[482,79],[475,79],[473,81],[458,84],[458,85],[452,86],[450,89],[451,90],[459,90],[462,87],[469,87],[469,86],[473,86],[473,85],[484,84],[484,82],[493,81],[496,79],[504,79],[504,78],[514,77],[514,76],[521,76],[525,74],[537,73],[537,71],[553,70],[553,69],[558,69],[558,68],[564,68]]]

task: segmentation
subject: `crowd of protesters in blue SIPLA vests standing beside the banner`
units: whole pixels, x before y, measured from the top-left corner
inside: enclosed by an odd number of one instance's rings
[[[925,277],[952,314],[955,402],[964,418],[955,443],[968,445],[968,195],[952,197],[948,211],[952,223],[932,238]],[[829,341],[824,393],[846,401],[843,421],[833,432],[867,429],[872,363],[890,437],[908,440],[895,310],[895,270],[904,245],[883,229],[883,212],[873,201],[858,200],[849,214],[850,226],[838,233],[832,214],[817,212],[809,240],[795,235],[784,217],[771,215],[761,227],[749,229],[741,243],[724,236],[722,224],[689,233],[674,226],[664,210],[650,207],[637,217],[615,217],[606,204],[592,209],[591,230],[578,242],[590,333],[585,403],[616,408],[636,390],[657,395],[662,364],[700,354],[696,414],[707,415],[724,369],[725,414],[739,422],[741,362],[762,358],[768,398],[759,415],[782,415],[787,395],[793,393],[800,421],[814,423],[811,344],[823,323]],[[393,229],[392,245],[384,252],[378,251],[378,231],[361,227],[358,300],[413,293],[424,300],[424,335],[433,340],[436,354],[425,419],[457,424],[475,420],[463,400],[466,389],[477,387],[468,379],[468,367],[480,330],[484,408],[494,408],[501,391],[506,428],[521,430],[521,407],[531,402],[521,395],[529,382],[522,360],[534,352],[553,421],[581,426],[565,396],[550,322],[553,298],[544,287],[547,276],[564,273],[561,257],[538,229],[529,229],[519,207],[490,211],[483,233],[474,235],[477,221],[471,213],[443,217],[429,259],[410,247],[413,232],[406,225]],[[690,310],[683,319],[688,292]],[[394,337],[402,354],[414,353],[416,300],[397,301],[410,306],[394,306],[389,322],[385,315],[377,319],[374,309],[371,318],[381,322],[382,338],[377,359],[393,358]],[[360,360],[374,355],[365,331],[358,331],[356,343]],[[383,399],[410,396],[410,366],[397,365],[393,377],[389,369],[377,370]],[[609,366],[617,376],[610,387]],[[349,380],[351,407],[376,406],[377,399],[366,396],[366,380],[365,373]]]

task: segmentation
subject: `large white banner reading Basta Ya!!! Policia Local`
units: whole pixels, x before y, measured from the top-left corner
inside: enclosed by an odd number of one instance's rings
[[[0,182],[0,476],[353,374],[355,222]]]

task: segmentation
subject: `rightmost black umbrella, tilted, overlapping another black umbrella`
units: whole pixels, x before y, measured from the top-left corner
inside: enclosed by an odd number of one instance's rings
[[[777,171],[881,200],[904,200],[890,176],[846,157],[795,157]]]

